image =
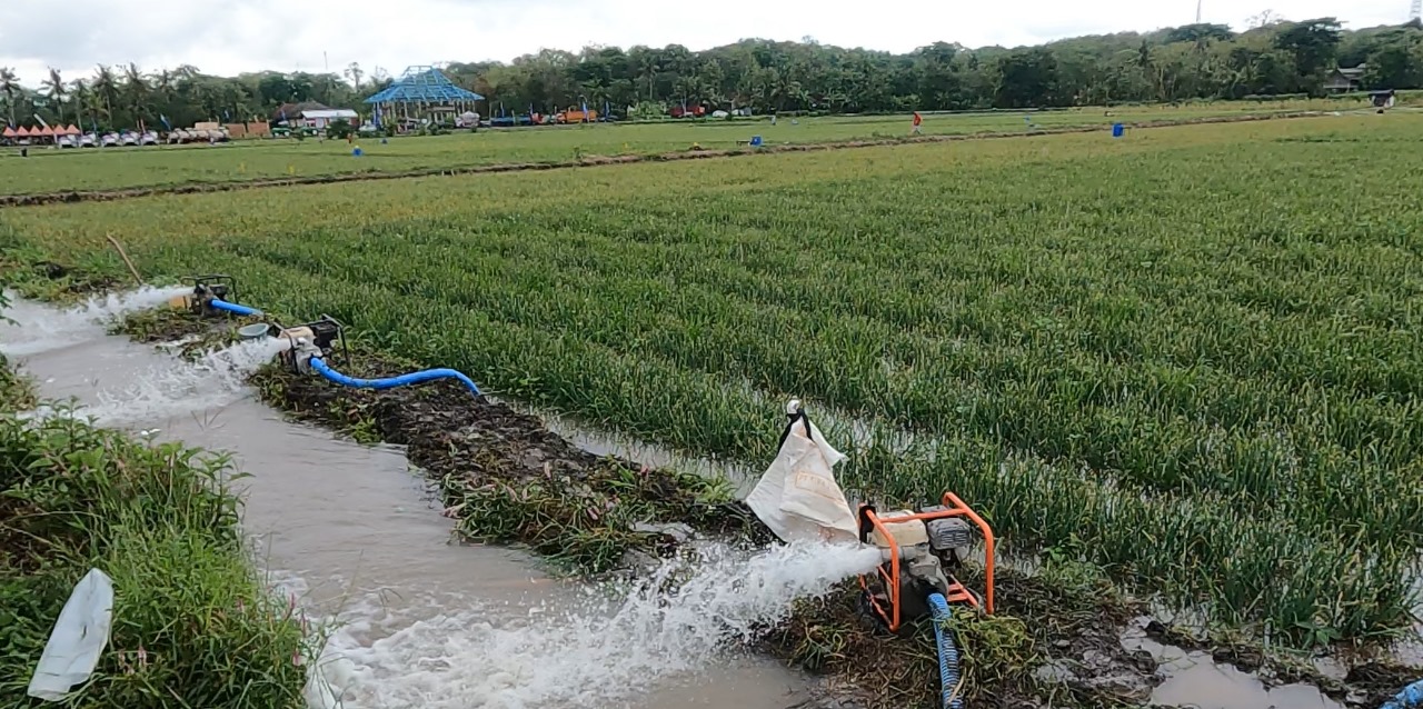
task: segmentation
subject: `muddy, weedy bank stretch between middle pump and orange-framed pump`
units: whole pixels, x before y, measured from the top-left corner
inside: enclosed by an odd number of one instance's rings
[[[333,366],[356,377],[423,369],[359,352]],[[468,541],[522,542],[579,571],[602,572],[633,552],[667,554],[693,531],[746,537],[758,527],[724,485],[593,456],[538,417],[451,380],[350,390],[270,366],[253,383],[265,401],[296,419],[404,446]]]

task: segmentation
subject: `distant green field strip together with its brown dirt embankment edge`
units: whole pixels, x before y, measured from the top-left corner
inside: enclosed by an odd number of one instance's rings
[[[909,137],[908,118],[848,121],[818,118],[794,125],[598,125],[495,131],[478,135],[398,138],[388,145],[367,141],[354,158],[340,141],[300,145],[246,144],[222,148],[139,148],[138,152],[38,154],[10,162],[0,172],[0,206],[131,199],[164,194],[223,192],[263,187],[313,185],[430,175],[524,172],[578,167],[622,165],[761,155],[814,149],[1019,138],[1062,132],[1107,131],[1116,121],[1131,128],[1160,128],[1201,122],[1237,122],[1319,115],[1306,111],[1197,110],[1180,114],[1138,110],[1127,117],[1093,112],[1047,114],[1044,125],[1015,127],[1002,115],[949,115],[936,131]],[[1016,118],[1016,117],[1015,117]],[[1131,122],[1131,118],[1136,118]],[[736,131],[740,128],[740,131]],[[942,132],[941,132],[942,131]],[[763,148],[747,145],[750,135],[767,134]],[[936,132],[936,134],[935,134]],[[744,135],[743,135],[744,134]],[[174,179],[178,175],[178,179]],[[9,187],[6,187],[9,184]]]

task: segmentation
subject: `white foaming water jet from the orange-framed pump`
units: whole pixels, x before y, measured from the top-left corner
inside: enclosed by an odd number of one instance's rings
[[[676,673],[713,666],[791,602],[879,564],[858,545],[795,542],[757,552],[714,544],[622,589],[494,625],[464,608],[373,634],[357,619],[329,642],[307,688],[320,709],[615,706]],[[353,618],[363,612],[353,609]],[[369,618],[369,615],[367,615]],[[373,639],[373,635],[380,635]]]

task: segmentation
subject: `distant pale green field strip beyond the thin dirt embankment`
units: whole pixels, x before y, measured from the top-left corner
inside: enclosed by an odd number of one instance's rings
[[[1185,121],[1195,118],[1272,114],[1298,110],[1281,104],[1207,104],[1191,107],[1130,107],[1104,115],[1103,108],[1033,114],[1039,130],[1101,125],[1116,121]],[[1333,103],[1319,105],[1338,105]],[[1350,104],[1352,105],[1352,104]],[[931,115],[926,135],[1027,132],[1026,112]],[[737,141],[761,135],[768,145],[899,138],[909,117],[828,117],[764,121],[704,121],[686,124],[582,125],[499,130],[441,137],[359,141],[364,155],[351,157],[346,141],[239,141],[225,147],[159,147],[142,149],[31,149],[28,159],[0,152],[0,195],[63,191],[112,191],[185,184],[246,182],[272,178],[312,178],[360,172],[455,169],[494,164],[565,162],[591,157],[679,152],[699,144],[730,149]],[[697,169],[697,168],[686,168]]]

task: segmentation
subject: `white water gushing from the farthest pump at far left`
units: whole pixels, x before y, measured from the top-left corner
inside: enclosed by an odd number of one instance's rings
[[[0,317],[13,322],[0,320],[0,354],[24,357],[91,340],[104,335],[108,320],[157,308],[191,290],[182,286],[144,286],[127,293],[95,296],[67,310],[21,300],[6,292],[10,305],[0,310]]]

